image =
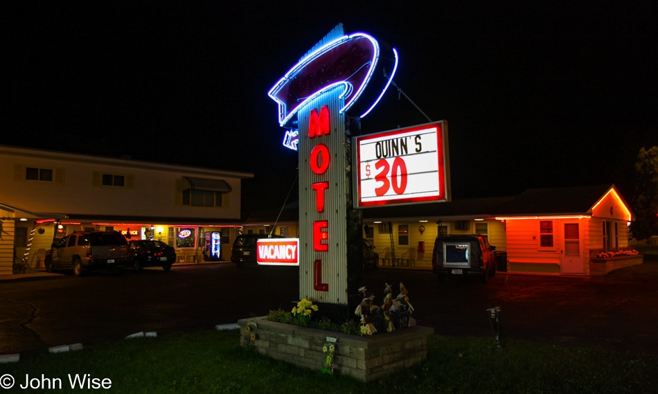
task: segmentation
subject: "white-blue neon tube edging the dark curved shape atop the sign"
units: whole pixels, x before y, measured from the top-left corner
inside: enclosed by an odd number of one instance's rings
[[[299,72],[307,64],[309,64],[310,62],[315,60],[315,58],[317,58],[319,55],[322,55],[323,53],[326,53],[326,52],[330,51],[332,48],[335,48],[335,46],[343,44],[344,42],[347,42],[350,39],[354,39],[354,38],[357,38],[357,37],[365,37],[365,38],[369,39],[370,42],[373,44],[373,47],[375,48],[375,53],[373,54],[373,60],[371,60],[370,70],[368,70],[368,73],[366,73],[366,78],[362,82],[361,87],[359,87],[359,89],[357,91],[355,91],[355,93],[353,95],[351,94],[352,89],[353,89],[352,84],[350,84],[349,82],[346,82],[346,81],[335,82],[335,83],[330,84],[326,87],[322,87],[322,89],[320,89],[319,91],[313,93],[308,98],[305,98],[303,100],[303,102],[301,102],[301,104],[297,105],[292,111],[290,111],[290,114],[288,114],[286,116],[285,111],[286,111],[287,108],[286,108],[285,102],[279,100],[274,95],[281,89],[281,87],[283,87],[285,82],[287,82],[287,80],[290,79],[291,75],[294,75],[295,73]],[[313,51],[308,56],[304,57],[302,60],[297,62],[294,66],[292,66],[292,68],[290,70],[288,70],[287,73],[285,73],[285,75],[283,75],[283,77],[281,77],[281,79],[279,79],[274,84],[272,89],[269,89],[269,91],[267,92],[267,96],[269,96],[270,98],[272,98],[272,100],[274,100],[278,103],[278,123],[279,123],[279,125],[281,125],[281,126],[285,125],[285,123],[288,120],[290,120],[290,118],[292,118],[292,116],[294,116],[294,114],[296,114],[296,112],[299,111],[299,109],[301,107],[303,107],[303,105],[307,104],[308,101],[312,100],[312,98],[315,98],[315,97],[319,96],[319,94],[322,93],[323,91],[326,91],[328,89],[331,89],[332,87],[338,86],[339,84],[345,84],[346,87],[347,86],[350,87],[349,88],[349,93],[348,93],[347,89],[346,89],[346,91],[341,93],[341,98],[346,97],[346,96],[351,96],[350,100],[348,100],[348,102],[346,102],[345,106],[339,111],[339,113],[342,114],[342,113],[344,113],[344,111],[347,111],[348,109],[350,109],[350,107],[352,107],[352,105],[357,100],[357,98],[359,98],[361,96],[361,93],[363,93],[364,89],[368,85],[368,82],[370,82],[370,80],[373,76],[373,73],[375,72],[375,67],[377,66],[377,61],[379,60],[379,57],[380,57],[380,45],[379,45],[379,43],[377,42],[377,40],[373,36],[368,35],[366,33],[353,33],[351,35],[344,35],[344,36],[338,37],[337,39],[334,39],[334,40],[328,42],[327,44],[321,46],[320,48],[317,48],[315,51]]]

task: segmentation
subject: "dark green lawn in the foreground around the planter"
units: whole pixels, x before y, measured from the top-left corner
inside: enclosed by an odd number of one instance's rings
[[[425,362],[363,384],[267,359],[240,348],[238,335],[176,333],[78,352],[26,353],[18,363],[0,364],[0,376],[16,379],[0,393],[28,392],[18,388],[26,374],[61,379],[57,393],[82,391],[70,388],[69,374],[111,379],[110,393],[658,393],[658,358],[649,355],[524,341],[498,349],[492,338],[435,336]]]

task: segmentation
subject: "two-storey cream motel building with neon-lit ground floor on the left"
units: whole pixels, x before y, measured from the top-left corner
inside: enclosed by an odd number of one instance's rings
[[[241,181],[254,177],[1,145],[0,168],[0,275],[42,269],[51,244],[75,231],[161,240],[177,262],[230,260]]]

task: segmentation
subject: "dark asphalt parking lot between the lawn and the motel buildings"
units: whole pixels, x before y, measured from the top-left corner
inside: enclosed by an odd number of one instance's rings
[[[228,263],[146,269],[124,276],[71,275],[0,281],[0,355],[67,343],[212,329],[288,308],[294,267],[237,269]],[[502,338],[658,355],[658,261],[600,278],[497,275],[489,283],[438,283],[429,271],[371,269],[364,284],[382,301],[384,283],[409,290],[418,324],[450,336],[491,337],[486,310],[501,307]]]

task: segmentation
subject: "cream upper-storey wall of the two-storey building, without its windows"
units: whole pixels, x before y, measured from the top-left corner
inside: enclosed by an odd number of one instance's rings
[[[53,169],[53,181],[28,181],[25,168]],[[0,148],[1,201],[35,212],[79,215],[240,218],[240,177],[220,171]],[[124,187],[102,186],[100,174],[118,174]],[[222,207],[182,206],[182,177],[222,179],[232,190]],[[235,198],[231,198],[235,195]]]

